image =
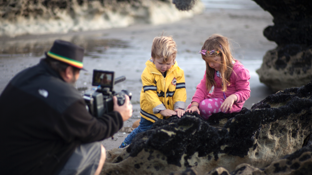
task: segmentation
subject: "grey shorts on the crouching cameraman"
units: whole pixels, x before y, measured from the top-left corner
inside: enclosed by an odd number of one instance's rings
[[[93,175],[101,158],[100,142],[81,144],[66,162],[59,175]]]

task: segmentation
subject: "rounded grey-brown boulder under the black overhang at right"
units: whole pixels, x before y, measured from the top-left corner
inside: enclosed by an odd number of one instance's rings
[[[298,44],[279,46],[263,57],[256,72],[273,91],[300,87],[312,80],[312,49]]]

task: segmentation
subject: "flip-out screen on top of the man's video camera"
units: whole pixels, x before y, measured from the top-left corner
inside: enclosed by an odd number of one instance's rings
[[[114,87],[114,71],[106,71],[106,70],[93,70],[93,80],[92,86],[101,86],[101,87],[110,87],[113,89]]]

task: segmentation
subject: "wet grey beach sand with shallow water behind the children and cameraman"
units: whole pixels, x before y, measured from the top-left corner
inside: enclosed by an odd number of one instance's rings
[[[250,109],[254,103],[260,102],[272,93],[268,87],[260,83],[256,73],[266,51],[276,47],[276,44],[268,41],[262,33],[266,26],[273,24],[272,19],[272,16],[262,9],[207,9],[203,14],[191,19],[159,26],[142,24],[127,28],[65,35],[4,38],[0,41],[3,48],[14,45],[16,49],[17,43],[30,43],[31,46],[27,48],[36,49],[40,46],[41,52],[25,51],[17,54],[2,52],[0,55],[0,92],[17,72],[37,64],[43,57],[42,51],[48,51],[53,40],[63,39],[72,42],[76,40],[78,45],[89,42],[89,46],[95,43],[86,50],[84,67],[88,72],[80,73],[76,86],[79,90],[91,88],[93,69],[115,71],[116,77],[125,75],[126,80],[116,84],[115,90],[119,92],[126,88],[132,92],[133,116],[124,123],[124,126],[129,127],[140,118],[139,98],[142,88],[140,79],[145,62],[150,58],[153,38],[164,31],[165,35],[172,35],[176,41],[178,45],[176,60],[185,73],[187,104],[189,104],[196,85],[203,78],[205,71],[205,63],[197,52],[209,35],[219,33],[234,41],[232,44],[235,58],[250,71],[251,97],[244,105]],[[37,45],[34,46],[34,43]],[[24,45],[21,47],[26,48]],[[113,140],[106,139],[102,141],[102,144],[106,149],[117,148],[127,135],[127,133],[118,132]]]

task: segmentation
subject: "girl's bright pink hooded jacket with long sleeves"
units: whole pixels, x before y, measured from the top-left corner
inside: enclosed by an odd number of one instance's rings
[[[228,97],[232,94],[237,96],[237,101],[233,103],[232,112],[239,112],[243,107],[245,101],[250,97],[250,86],[249,79],[250,74],[248,69],[246,69],[240,62],[235,60],[235,64],[233,65],[233,72],[230,77],[230,85],[227,86],[227,91],[225,92],[225,96]],[[217,77],[217,73],[215,72],[214,80],[217,85],[214,85],[213,92],[209,93],[206,88],[206,71],[204,74],[204,78],[200,81],[200,83],[196,87],[196,92],[192,98],[192,102],[200,103],[202,100],[207,98],[222,98],[223,92],[221,91],[222,86],[220,82],[220,78]]]

